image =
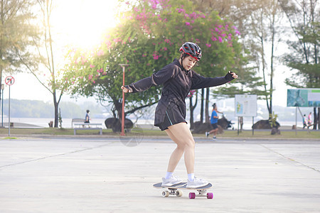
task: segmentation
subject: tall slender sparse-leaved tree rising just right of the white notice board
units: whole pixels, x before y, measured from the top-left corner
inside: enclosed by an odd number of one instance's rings
[[[272,92],[274,91],[274,65],[275,65],[275,46],[279,43],[280,28],[279,21],[282,14],[279,11],[277,1],[259,1],[260,7],[250,13],[247,19],[247,45],[250,46],[252,55],[254,56],[255,67],[258,72],[262,72],[264,92],[257,94],[264,95],[267,110],[272,114]],[[268,47],[270,49],[268,50]],[[270,60],[266,55],[270,54]],[[268,79],[269,78],[269,79]],[[260,83],[259,83],[260,84]],[[269,86],[269,87],[268,87]]]

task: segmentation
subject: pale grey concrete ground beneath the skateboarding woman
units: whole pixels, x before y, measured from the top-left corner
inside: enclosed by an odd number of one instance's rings
[[[320,212],[320,141],[196,138],[213,200],[161,197],[167,138],[0,140],[0,212]],[[137,145],[137,146],[132,146]],[[183,159],[175,175],[186,180]]]

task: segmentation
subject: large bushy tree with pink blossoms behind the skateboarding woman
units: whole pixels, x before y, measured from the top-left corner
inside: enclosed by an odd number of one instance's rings
[[[68,91],[73,95],[97,96],[100,101],[111,99],[114,116],[120,116],[122,103],[122,69],[129,64],[126,83],[150,76],[178,57],[178,49],[186,41],[201,45],[203,59],[195,70],[204,76],[225,75],[238,65],[239,32],[218,13],[201,13],[191,1],[137,1],[127,5],[122,22],[108,33],[105,42],[83,55],[70,51],[70,64],[65,67]],[[127,95],[127,111],[132,113],[159,100],[161,88]]]

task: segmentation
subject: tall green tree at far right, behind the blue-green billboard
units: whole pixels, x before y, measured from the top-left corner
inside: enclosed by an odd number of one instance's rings
[[[297,70],[286,84],[298,88],[320,88],[319,65],[319,4],[316,0],[279,0],[286,14],[295,40],[288,40],[292,53],[284,56],[284,61],[292,70]],[[318,116],[316,116],[318,107]],[[314,129],[318,122],[320,129],[320,107],[314,106]]]

